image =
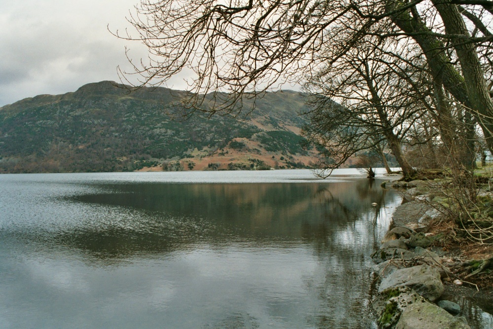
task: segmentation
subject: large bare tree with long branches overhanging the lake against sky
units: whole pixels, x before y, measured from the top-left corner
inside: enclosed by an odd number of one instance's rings
[[[302,81],[365,36],[407,39],[419,45],[433,81],[479,123],[492,151],[492,8],[486,0],[141,0],[129,17],[139,35],[116,34],[149,49],[148,61],[134,66],[140,85],[183,69],[196,73],[185,115],[239,113],[245,98]],[[324,56],[329,45],[331,58]]]

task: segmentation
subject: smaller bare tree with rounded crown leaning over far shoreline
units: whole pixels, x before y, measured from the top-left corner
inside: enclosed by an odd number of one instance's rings
[[[329,168],[336,168],[358,151],[385,141],[404,177],[415,172],[401,143],[424,108],[419,101],[421,95],[396,73],[405,71],[413,75],[414,68],[383,50],[388,47],[388,42],[367,36],[333,65],[314,73],[306,84],[313,110],[306,113],[310,122],[304,133],[328,150],[334,159]],[[331,51],[328,48],[326,56],[333,55]]]

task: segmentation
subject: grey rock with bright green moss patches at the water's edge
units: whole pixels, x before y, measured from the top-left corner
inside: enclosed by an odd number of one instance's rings
[[[393,328],[406,307],[424,301],[424,298],[412,289],[398,287],[379,293],[371,306],[377,316],[379,328]]]

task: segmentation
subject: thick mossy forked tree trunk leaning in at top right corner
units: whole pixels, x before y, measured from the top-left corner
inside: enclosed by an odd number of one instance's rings
[[[469,36],[458,7],[450,0],[432,0],[437,8],[447,34]],[[486,144],[493,152],[493,102],[487,90],[484,74],[472,42],[465,38],[456,38],[454,47],[463,76],[456,70],[443,51],[442,41],[433,36],[421,18],[411,9],[395,11],[405,2],[387,1],[387,12],[392,12],[390,18],[403,32],[413,34],[412,37],[420,45],[426,56],[426,61],[435,78],[440,78],[444,87],[468,110],[477,120],[483,130]],[[415,9],[415,8],[414,8]]]

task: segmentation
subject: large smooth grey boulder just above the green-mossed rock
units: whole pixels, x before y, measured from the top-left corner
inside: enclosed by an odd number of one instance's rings
[[[440,273],[428,265],[395,270],[382,280],[378,292],[398,287],[409,287],[431,301],[438,299],[444,290]]]

